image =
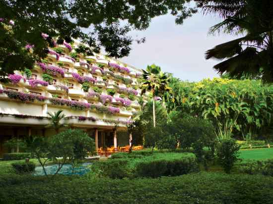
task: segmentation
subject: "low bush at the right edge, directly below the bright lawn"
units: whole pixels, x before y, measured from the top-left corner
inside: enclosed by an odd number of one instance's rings
[[[247,174],[273,176],[273,159],[242,164],[239,166],[239,171]]]

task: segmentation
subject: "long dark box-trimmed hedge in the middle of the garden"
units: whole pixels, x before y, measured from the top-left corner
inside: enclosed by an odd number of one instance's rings
[[[199,166],[195,157],[142,161],[137,163],[135,169],[136,176],[151,178],[179,176],[198,171]]]

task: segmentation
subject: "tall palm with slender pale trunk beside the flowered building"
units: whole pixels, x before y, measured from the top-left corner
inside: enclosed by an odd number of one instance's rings
[[[141,95],[146,92],[150,92],[153,101],[153,126],[155,127],[155,105],[154,101],[158,95],[170,91],[168,87],[168,76],[161,71],[159,66],[152,64],[147,66],[146,71],[142,70],[143,74],[138,79],[140,82],[139,88],[141,89]]]

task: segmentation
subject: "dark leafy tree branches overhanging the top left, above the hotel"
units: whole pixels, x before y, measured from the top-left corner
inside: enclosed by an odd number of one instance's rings
[[[88,45],[81,46],[80,51],[88,55],[99,53],[104,47],[111,57],[127,56],[134,41],[128,32],[145,30],[151,18],[168,12],[177,16],[177,23],[183,23],[183,19],[197,11],[186,6],[189,1],[2,0],[0,77],[4,79],[14,70],[31,68],[36,60],[47,55],[48,47],[55,46],[57,38],[58,44],[79,38]],[[127,24],[121,26],[121,21]],[[144,42],[144,38],[136,42]]]

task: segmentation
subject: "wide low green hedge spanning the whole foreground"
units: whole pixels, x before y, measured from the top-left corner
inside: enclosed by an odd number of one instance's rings
[[[272,204],[273,179],[196,173],[159,179],[2,178],[1,204]]]

